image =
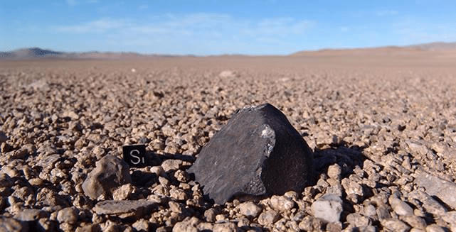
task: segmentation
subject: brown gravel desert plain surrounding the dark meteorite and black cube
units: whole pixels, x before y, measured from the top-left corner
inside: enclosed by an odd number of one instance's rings
[[[450,53],[0,61],[0,92],[0,231],[456,231]],[[266,102],[314,184],[212,204],[186,170]]]

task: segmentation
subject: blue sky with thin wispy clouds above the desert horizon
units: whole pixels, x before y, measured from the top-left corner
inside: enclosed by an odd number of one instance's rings
[[[456,1],[0,1],[0,51],[171,55],[456,41]]]

